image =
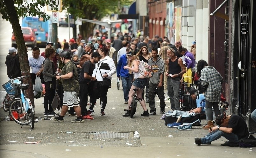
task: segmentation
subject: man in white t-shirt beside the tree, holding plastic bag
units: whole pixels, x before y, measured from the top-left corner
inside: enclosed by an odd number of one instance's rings
[[[39,76],[40,79],[43,79],[43,62],[45,58],[40,56],[40,49],[38,47],[34,47],[32,49],[32,57],[28,58],[28,64],[32,68],[31,79],[32,83],[35,83],[36,76]]]

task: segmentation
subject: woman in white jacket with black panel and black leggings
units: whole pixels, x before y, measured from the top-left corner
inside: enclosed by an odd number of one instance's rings
[[[117,71],[114,60],[108,55],[109,49],[106,46],[98,48],[97,52],[103,56],[99,63],[95,65],[96,73],[93,73],[92,76],[95,77],[98,81],[102,81],[101,87],[101,97],[100,97],[100,106],[101,112],[100,116],[105,116],[105,107],[107,105],[107,93],[109,88],[111,88],[111,76]],[[96,99],[93,96],[90,96],[90,108],[88,110],[89,115],[94,114],[93,107],[96,103]]]

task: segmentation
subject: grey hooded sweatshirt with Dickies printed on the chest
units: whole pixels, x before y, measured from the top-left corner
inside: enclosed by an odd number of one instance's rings
[[[158,85],[160,82],[160,74],[164,75],[164,60],[157,55],[157,60],[153,61],[153,57],[148,60],[148,64],[152,66],[154,75],[149,79],[149,83],[153,85]],[[164,79],[164,78],[163,78]]]

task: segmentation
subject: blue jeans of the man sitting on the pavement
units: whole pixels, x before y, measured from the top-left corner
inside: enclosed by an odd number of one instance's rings
[[[202,144],[206,144],[206,143],[209,143],[209,142],[219,139],[221,136],[224,136],[230,142],[239,142],[239,138],[236,134],[225,133],[221,130],[216,130],[216,131],[209,133],[208,135],[201,138],[201,142],[202,142]]]

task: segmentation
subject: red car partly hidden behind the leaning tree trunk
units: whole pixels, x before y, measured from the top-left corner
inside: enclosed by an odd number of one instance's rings
[[[23,34],[23,38],[25,41],[25,45],[31,47],[32,49],[36,47],[36,33],[29,27],[21,27],[21,31]],[[11,47],[15,47],[17,49],[17,43],[14,34],[12,33],[11,37]]]

